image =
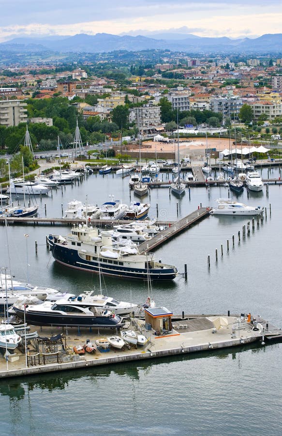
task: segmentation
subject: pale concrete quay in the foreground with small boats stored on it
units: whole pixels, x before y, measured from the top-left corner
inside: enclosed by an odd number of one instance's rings
[[[253,323],[247,322],[246,319],[242,321],[238,315],[185,315],[180,321],[174,321],[172,318],[172,330],[161,335],[147,329],[145,321],[133,319],[130,328],[146,336],[148,341],[144,346],[136,348],[131,345],[120,350],[109,348],[108,352],[98,349],[95,354],[85,353],[83,356],[74,354],[73,347],[83,345],[87,340],[95,343],[96,339],[101,338],[99,330],[56,327],[55,334],[57,336],[59,334],[60,343],[63,344],[61,351],[56,352],[55,348],[53,351],[47,348],[46,352],[42,353],[36,349],[32,341],[28,344],[27,354],[24,349],[22,352],[16,349],[15,353],[8,357],[7,363],[5,358],[0,358],[0,378],[156,359],[201,351],[212,353],[222,348],[244,346],[259,341],[264,345],[270,337],[279,342],[282,340],[281,329],[268,326],[260,316],[257,316],[256,320],[258,327],[254,327]],[[128,325],[130,325],[129,321]],[[30,332],[34,331],[44,338],[54,335],[54,327],[31,326]],[[103,337],[110,335],[113,335],[111,330],[103,329]]]

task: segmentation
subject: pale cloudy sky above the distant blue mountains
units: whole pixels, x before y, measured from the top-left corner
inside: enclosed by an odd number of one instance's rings
[[[16,36],[282,32],[281,0],[0,0],[0,41]]]

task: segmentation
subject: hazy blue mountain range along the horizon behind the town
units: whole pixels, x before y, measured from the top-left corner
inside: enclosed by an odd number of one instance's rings
[[[46,38],[15,38],[0,44],[0,51],[8,52],[60,52],[103,53],[115,50],[139,51],[169,49],[186,53],[237,53],[278,54],[282,53],[282,33],[265,34],[258,38],[230,39],[207,38],[192,34],[160,33],[147,36],[118,36],[109,33]]]

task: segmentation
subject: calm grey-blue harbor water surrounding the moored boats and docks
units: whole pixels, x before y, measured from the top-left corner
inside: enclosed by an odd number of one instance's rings
[[[267,169],[262,175],[267,178]],[[269,177],[278,178],[278,168],[271,169]],[[101,205],[112,194],[127,204],[140,201],[133,192],[130,199],[128,182],[129,177],[92,174],[79,185],[53,190],[53,197],[39,198],[39,214],[45,216],[46,204],[47,216],[60,218],[62,208],[74,199]],[[269,185],[268,196],[266,187],[259,193],[244,189],[238,197],[229,195],[249,205],[266,206],[267,218],[259,226],[255,220],[254,230],[251,222],[250,235],[243,238],[242,227],[247,227],[249,217],[209,216],[163,244],[155,250],[156,259],[176,265],[180,273],[187,264],[188,282],[181,274],[171,282],[154,282],[153,297],[157,305],[174,313],[251,312],[282,327],[282,187]],[[228,188],[223,186],[193,187],[190,196],[186,189],[181,199],[163,187],[152,188],[145,201],[151,203],[150,218],[156,217],[158,210],[160,219],[173,222],[200,203],[216,206],[218,198],[227,197]],[[68,231],[67,226],[0,226],[0,266],[9,269],[11,265],[16,278],[34,284],[75,294],[91,289],[100,293],[99,277],[56,264],[46,249],[47,234]],[[108,277],[102,281],[110,296],[137,303],[147,299],[145,281]],[[44,335],[44,329],[40,334]],[[264,347],[258,343],[1,380],[1,435],[279,435],[281,359],[280,344]]]

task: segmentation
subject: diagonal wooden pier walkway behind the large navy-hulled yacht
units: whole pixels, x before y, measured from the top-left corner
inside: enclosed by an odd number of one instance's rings
[[[163,242],[171,239],[179,232],[182,232],[184,229],[187,229],[193,223],[200,221],[203,218],[208,217],[209,208],[200,207],[195,210],[191,214],[186,217],[179,219],[179,221],[175,221],[173,224],[169,225],[168,228],[164,229],[162,232],[159,232],[155,236],[152,237],[149,241],[143,242],[139,245],[140,253],[144,253],[146,251],[150,251],[155,249],[159,245],[163,244]]]

